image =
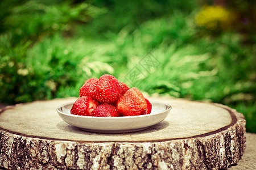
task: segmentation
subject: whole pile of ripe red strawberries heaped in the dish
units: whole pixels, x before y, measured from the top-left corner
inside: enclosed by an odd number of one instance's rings
[[[80,88],[80,98],[71,114],[96,117],[138,116],[150,114],[152,105],[138,88],[130,88],[113,75],[105,74],[86,80]]]

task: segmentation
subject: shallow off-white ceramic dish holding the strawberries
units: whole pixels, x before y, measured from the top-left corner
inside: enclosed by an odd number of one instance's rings
[[[141,116],[122,117],[92,117],[77,116],[70,113],[72,103],[66,103],[57,107],[59,116],[68,124],[82,130],[96,133],[126,133],[144,130],[163,121],[171,111],[171,105],[150,101],[152,111]]]

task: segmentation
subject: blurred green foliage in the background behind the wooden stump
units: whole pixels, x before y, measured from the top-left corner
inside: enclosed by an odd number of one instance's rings
[[[0,102],[78,96],[102,74],[129,84],[137,66],[144,93],[229,105],[256,133],[255,32],[242,23],[205,31],[199,9],[188,0],[1,1]],[[160,62],[150,73],[139,65],[148,54]]]

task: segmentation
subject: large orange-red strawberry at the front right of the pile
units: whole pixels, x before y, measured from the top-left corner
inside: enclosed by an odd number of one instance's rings
[[[117,101],[117,110],[123,116],[138,116],[146,113],[147,102],[138,88],[130,88]]]

